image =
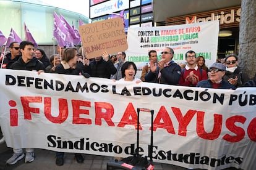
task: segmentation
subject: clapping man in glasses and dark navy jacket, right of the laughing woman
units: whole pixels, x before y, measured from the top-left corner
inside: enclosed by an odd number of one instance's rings
[[[158,63],[150,60],[150,71],[145,75],[145,81],[177,85],[181,78],[181,67],[172,60],[173,54],[173,49],[166,47],[161,52],[161,60]]]

